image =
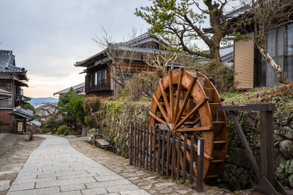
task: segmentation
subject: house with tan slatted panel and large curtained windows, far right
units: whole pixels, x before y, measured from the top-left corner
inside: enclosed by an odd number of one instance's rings
[[[246,13],[239,8],[227,14],[231,18],[241,18]],[[273,60],[287,72],[289,81],[293,80],[293,15],[290,20],[277,24],[268,33],[265,48]],[[231,19],[235,21],[236,19]],[[253,35],[253,25],[247,27]],[[249,30],[248,30],[249,31]],[[248,35],[248,34],[246,34]],[[255,47],[252,39],[234,41],[234,77],[239,82],[239,90],[247,90],[258,86],[272,86],[278,84],[277,75],[270,64],[263,58]]]

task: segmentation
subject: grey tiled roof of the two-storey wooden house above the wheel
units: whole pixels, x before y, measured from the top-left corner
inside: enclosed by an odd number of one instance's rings
[[[139,35],[138,37],[135,37],[134,39],[131,39],[129,41],[126,41],[126,42],[119,42],[119,43],[115,43],[115,47],[117,47],[117,49],[121,49],[121,50],[127,50],[127,51],[137,51],[137,52],[146,52],[146,53],[149,53],[149,48],[147,48],[146,46],[137,46],[137,47],[133,47],[133,46],[130,46],[131,44],[134,44],[134,43],[137,43],[137,42],[140,42],[144,39],[147,39],[147,38],[151,38],[151,36],[149,35],[148,32],[144,33],[144,34],[141,34]],[[156,39],[158,39],[156,37]],[[163,50],[161,50],[162,52]],[[75,66],[79,66],[81,63],[93,58],[93,57],[96,57],[98,55],[100,55],[101,53],[103,53],[103,51],[83,60],[83,61],[79,61],[79,62],[76,62],[74,65]],[[159,51],[156,51],[156,53],[159,54]],[[163,52],[162,52],[163,53]]]

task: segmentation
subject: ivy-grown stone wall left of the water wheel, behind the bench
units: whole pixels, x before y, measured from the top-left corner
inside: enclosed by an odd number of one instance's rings
[[[129,158],[130,120],[149,123],[150,103],[143,102],[113,102],[104,101],[102,111],[104,125],[101,129],[90,129],[87,136],[102,134],[112,141],[113,152],[116,155]]]

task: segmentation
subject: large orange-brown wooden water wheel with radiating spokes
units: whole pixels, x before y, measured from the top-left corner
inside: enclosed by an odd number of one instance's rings
[[[169,124],[176,132],[177,140],[184,141],[184,134],[205,139],[203,178],[210,185],[217,181],[222,172],[228,146],[225,112],[215,110],[215,106],[222,105],[222,100],[205,75],[182,68],[170,71],[159,81],[149,112],[150,126]],[[178,132],[182,134],[180,138]],[[187,142],[190,143],[190,140]],[[157,144],[153,146],[153,150],[158,151]],[[196,158],[196,155],[194,159],[190,159],[189,155],[186,159],[180,156],[180,161],[193,162],[195,177]]]

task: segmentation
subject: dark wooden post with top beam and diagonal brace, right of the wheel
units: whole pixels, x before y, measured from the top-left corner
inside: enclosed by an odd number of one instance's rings
[[[216,110],[230,111],[235,127],[245,147],[248,158],[253,166],[258,184],[253,189],[255,192],[268,195],[278,195],[278,192],[288,195],[282,185],[275,178],[274,171],[274,137],[273,137],[273,111],[275,104],[247,104],[246,106],[215,106]],[[260,151],[261,151],[261,172],[256,164],[244,133],[237,120],[234,111],[260,111]]]

